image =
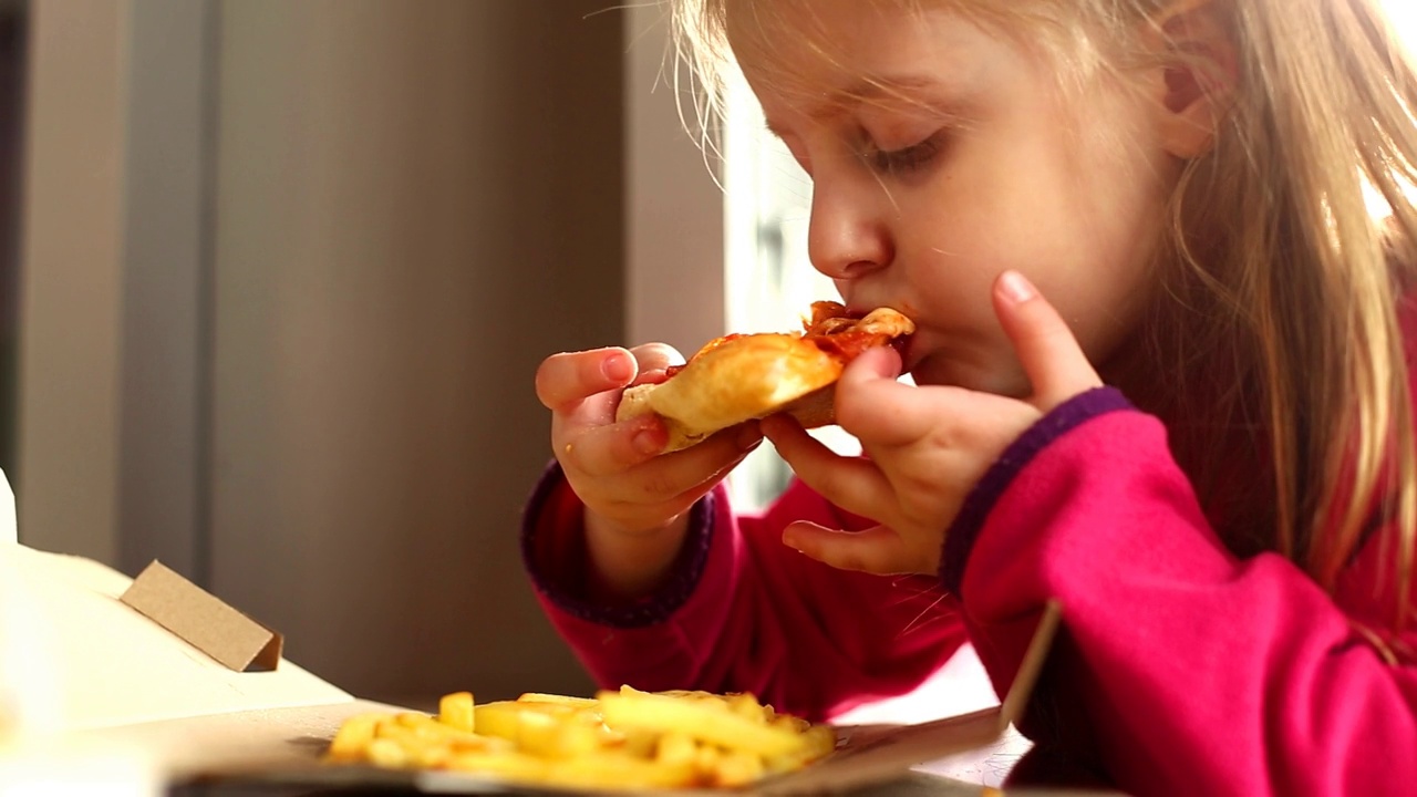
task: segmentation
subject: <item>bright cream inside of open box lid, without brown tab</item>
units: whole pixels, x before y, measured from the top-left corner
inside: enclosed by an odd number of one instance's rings
[[[234,672],[120,603],[132,584],[123,573],[17,539],[14,494],[0,474],[0,742],[353,701],[288,661]]]

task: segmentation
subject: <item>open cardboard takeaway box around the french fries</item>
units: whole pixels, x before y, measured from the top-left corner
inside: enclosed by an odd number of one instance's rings
[[[324,787],[398,784],[427,793],[517,791],[461,773],[323,766],[319,757],[346,718],[405,709],[359,699],[283,658],[268,668],[247,667],[259,658],[254,652],[269,652],[272,644],[278,651],[279,635],[188,590],[170,570],[145,572],[135,587],[91,560],[0,545],[11,549],[27,576],[27,613],[48,628],[50,638],[35,640],[35,650],[47,648],[54,667],[37,669],[55,675],[50,691],[60,699],[48,710],[72,737],[139,750],[171,781],[225,777]],[[1053,611],[1000,706],[924,725],[843,728],[833,754],[752,793],[842,791],[996,742],[1022,712],[1056,625]],[[235,630],[239,638],[214,630]]]

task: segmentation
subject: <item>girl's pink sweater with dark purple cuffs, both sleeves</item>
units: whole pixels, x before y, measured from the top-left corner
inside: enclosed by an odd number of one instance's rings
[[[580,515],[553,469],[524,553],[605,685],[754,691],[830,718],[911,689],[969,640],[1002,693],[1056,597],[1064,634],[1022,728],[1040,747],[1136,794],[1417,791],[1417,632],[1379,647],[1362,631],[1387,627],[1379,535],[1335,596],[1277,554],[1237,559],[1162,424],[1110,389],[1005,452],[951,528],[938,581],[836,572],[782,546],[788,519],[863,525],[795,484],[761,518],[710,495],[669,584],[597,606]]]

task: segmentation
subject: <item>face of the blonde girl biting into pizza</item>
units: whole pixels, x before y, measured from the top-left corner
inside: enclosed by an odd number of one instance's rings
[[[1117,78],[1060,89],[1049,58],[944,10],[731,4],[728,34],[812,179],[812,264],[918,332],[918,384],[1029,390],[990,285],[1026,274],[1094,364],[1135,338],[1178,163]]]

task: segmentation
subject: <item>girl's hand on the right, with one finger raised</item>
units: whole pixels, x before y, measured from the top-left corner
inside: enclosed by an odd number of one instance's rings
[[[796,522],[784,529],[784,543],[843,570],[938,573],[945,530],[985,471],[1049,410],[1101,384],[1071,330],[1023,275],[995,281],[993,308],[1033,384],[1026,400],[901,384],[900,356],[884,347],[857,357],[836,387],[836,420],[860,440],[864,458],[839,457],[789,417],[762,421],[808,486],[880,523],[845,532]]]

